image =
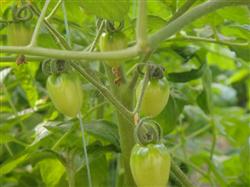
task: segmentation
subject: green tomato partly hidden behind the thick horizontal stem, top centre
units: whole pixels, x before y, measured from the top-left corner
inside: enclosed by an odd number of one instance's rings
[[[128,46],[127,38],[122,32],[102,33],[100,37],[101,51],[115,51],[125,49]],[[105,63],[111,67],[117,67],[122,60],[107,60]]]

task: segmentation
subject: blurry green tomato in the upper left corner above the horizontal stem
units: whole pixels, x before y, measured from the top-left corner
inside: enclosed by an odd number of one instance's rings
[[[8,25],[8,45],[28,45],[32,37],[32,29],[24,23],[11,23]]]

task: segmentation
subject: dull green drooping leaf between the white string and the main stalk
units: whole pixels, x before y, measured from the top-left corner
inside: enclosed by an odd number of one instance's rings
[[[105,120],[91,121],[85,124],[86,131],[98,138],[109,141],[117,148],[120,147],[117,126]]]

